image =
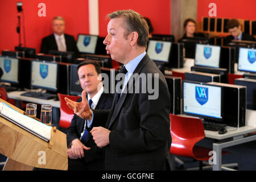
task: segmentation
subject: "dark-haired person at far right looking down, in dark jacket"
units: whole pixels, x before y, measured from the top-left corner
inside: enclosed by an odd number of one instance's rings
[[[241,24],[237,19],[230,19],[226,24],[226,28],[228,29],[231,35],[226,36],[224,39],[224,44],[228,45],[232,40],[249,40],[255,41],[255,38],[245,32],[242,32]]]

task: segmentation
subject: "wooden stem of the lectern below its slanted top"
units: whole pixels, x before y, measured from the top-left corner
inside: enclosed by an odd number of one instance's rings
[[[32,171],[33,168],[34,167],[32,166],[27,166],[26,164],[22,164],[13,159],[7,158],[3,171]]]

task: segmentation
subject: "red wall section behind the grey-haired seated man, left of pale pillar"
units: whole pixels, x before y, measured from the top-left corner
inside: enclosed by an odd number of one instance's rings
[[[19,44],[19,36],[16,33],[18,25],[16,2],[18,0],[0,1],[0,50],[14,50]],[[23,2],[22,22],[24,20],[26,47],[35,47],[36,52],[40,51],[42,38],[52,34],[51,20],[54,16],[63,16],[66,24],[65,33],[75,36],[75,39],[79,33],[89,33],[88,0],[20,0],[20,2]],[[46,4],[46,17],[38,16],[40,9],[38,4],[41,2]],[[23,32],[23,27],[21,29]]]

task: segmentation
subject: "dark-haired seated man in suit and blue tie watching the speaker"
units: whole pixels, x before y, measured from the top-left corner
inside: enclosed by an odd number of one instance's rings
[[[82,89],[86,90],[90,108],[110,109],[113,95],[104,93],[100,65],[96,61],[84,61],[77,66],[77,73]],[[77,102],[81,102],[81,98]],[[96,146],[85,125],[85,119],[74,114],[67,133],[67,143],[71,146],[68,148],[68,169],[104,170],[104,151]]]

